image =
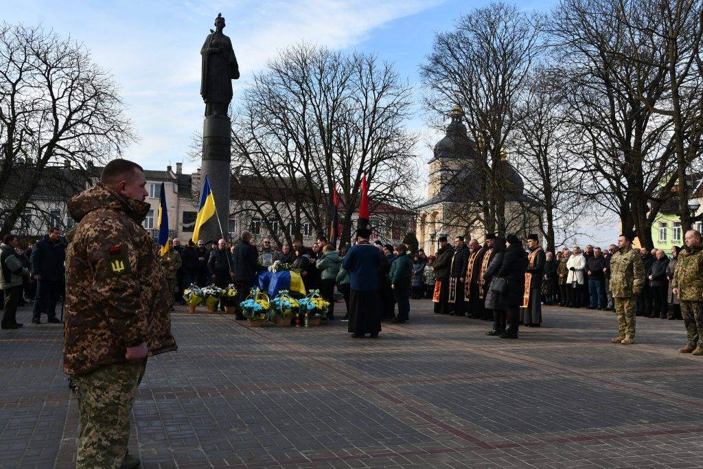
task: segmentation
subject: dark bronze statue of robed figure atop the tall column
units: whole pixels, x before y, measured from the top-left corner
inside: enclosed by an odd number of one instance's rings
[[[226,116],[232,101],[232,80],[239,78],[239,65],[232,49],[232,41],[222,32],[224,30],[222,13],[215,18],[215,30],[202,44],[202,72],[200,77],[200,96],[205,101],[205,116]]]

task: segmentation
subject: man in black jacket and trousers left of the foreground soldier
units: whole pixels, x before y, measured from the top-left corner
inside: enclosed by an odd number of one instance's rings
[[[32,250],[30,262],[32,277],[37,281],[37,295],[32,309],[32,324],[41,324],[41,314],[49,317],[49,323],[61,323],[56,317],[56,302],[63,294],[63,262],[66,245],[61,240],[61,231],[56,226],[49,230]]]

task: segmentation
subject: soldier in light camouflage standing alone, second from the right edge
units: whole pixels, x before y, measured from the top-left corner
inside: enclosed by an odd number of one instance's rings
[[[618,238],[619,250],[610,258],[610,290],[615,302],[619,335],[615,344],[635,342],[635,301],[645,284],[645,267],[639,252],[626,236]]]

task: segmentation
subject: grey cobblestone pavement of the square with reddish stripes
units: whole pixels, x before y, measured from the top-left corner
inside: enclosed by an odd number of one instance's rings
[[[612,313],[546,307],[500,340],[431,305],[378,340],[179,309],[131,452],[145,468],[703,467],[703,358],[676,352],[681,321],[638,318],[636,345],[612,345]],[[0,331],[0,467],[72,467],[62,329],[20,318]]]

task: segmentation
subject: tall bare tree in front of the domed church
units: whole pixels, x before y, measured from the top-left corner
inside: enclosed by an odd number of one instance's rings
[[[478,193],[472,197],[479,210],[463,216],[467,226],[502,233],[510,226],[506,194],[522,187],[512,187],[516,184],[505,148],[525,117],[519,104],[541,53],[541,21],[536,14],[503,3],[477,8],[460,18],[455,30],[437,34],[421,67],[427,108],[444,116],[447,103],[458,101],[470,138],[477,143],[479,164],[471,162],[467,169],[481,174]]]

